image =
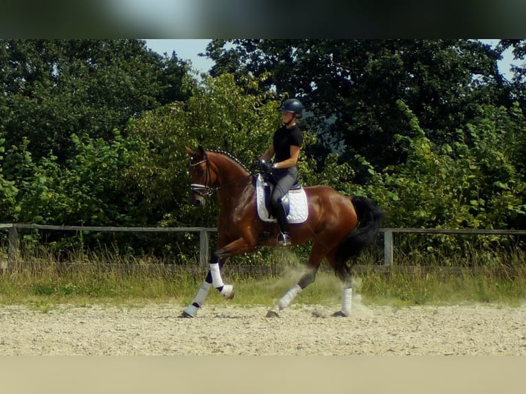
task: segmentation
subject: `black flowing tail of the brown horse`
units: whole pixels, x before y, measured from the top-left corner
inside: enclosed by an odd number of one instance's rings
[[[376,240],[380,230],[380,222],[383,218],[382,211],[367,197],[352,196],[352,205],[358,216],[358,225],[339,244],[336,250],[336,261],[334,271],[336,275],[350,272],[347,261],[356,257],[364,248]]]

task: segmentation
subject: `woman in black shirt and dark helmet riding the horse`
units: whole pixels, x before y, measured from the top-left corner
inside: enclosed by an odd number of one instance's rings
[[[279,224],[280,234],[277,244],[278,246],[288,246],[290,245],[290,235],[282,198],[298,180],[296,164],[303,142],[303,133],[296,124],[296,119],[303,117],[303,105],[299,100],[288,99],[282,103],[278,111],[282,113],[283,126],[274,132],[271,146],[260,157],[260,160],[266,162],[275,156],[272,174],[276,185],[271,196],[271,205]]]

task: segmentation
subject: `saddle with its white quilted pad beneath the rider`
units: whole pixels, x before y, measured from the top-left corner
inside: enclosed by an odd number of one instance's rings
[[[271,194],[274,185],[266,181],[262,174],[255,176],[255,195],[258,216],[264,222],[277,222],[271,208]],[[304,188],[296,183],[282,198],[287,213],[287,222],[301,223],[308,218],[307,196]]]

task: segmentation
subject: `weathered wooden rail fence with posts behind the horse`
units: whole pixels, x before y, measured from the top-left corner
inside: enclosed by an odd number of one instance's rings
[[[53,226],[48,224],[1,224],[0,229],[8,229],[8,261],[15,262],[19,255],[18,229],[41,229],[57,231],[105,231],[128,233],[199,233],[199,264],[206,267],[209,262],[209,233],[216,232],[215,227],[95,227],[95,226]],[[383,233],[384,260],[383,266],[389,268],[393,265],[393,235],[395,233],[420,233],[420,234],[471,234],[471,235],[526,235],[526,230],[472,230],[472,229],[380,229]]]

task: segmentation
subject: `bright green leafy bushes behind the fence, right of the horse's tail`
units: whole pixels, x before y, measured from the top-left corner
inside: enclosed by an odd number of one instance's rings
[[[398,104],[415,135],[398,136],[408,144],[407,160],[380,174],[369,167],[374,178],[364,188],[389,213],[387,226],[502,229],[525,215],[526,185],[511,148],[521,124],[505,108],[481,106],[481,115],[457,130],[453,146],[436,146],[409,108]]]

